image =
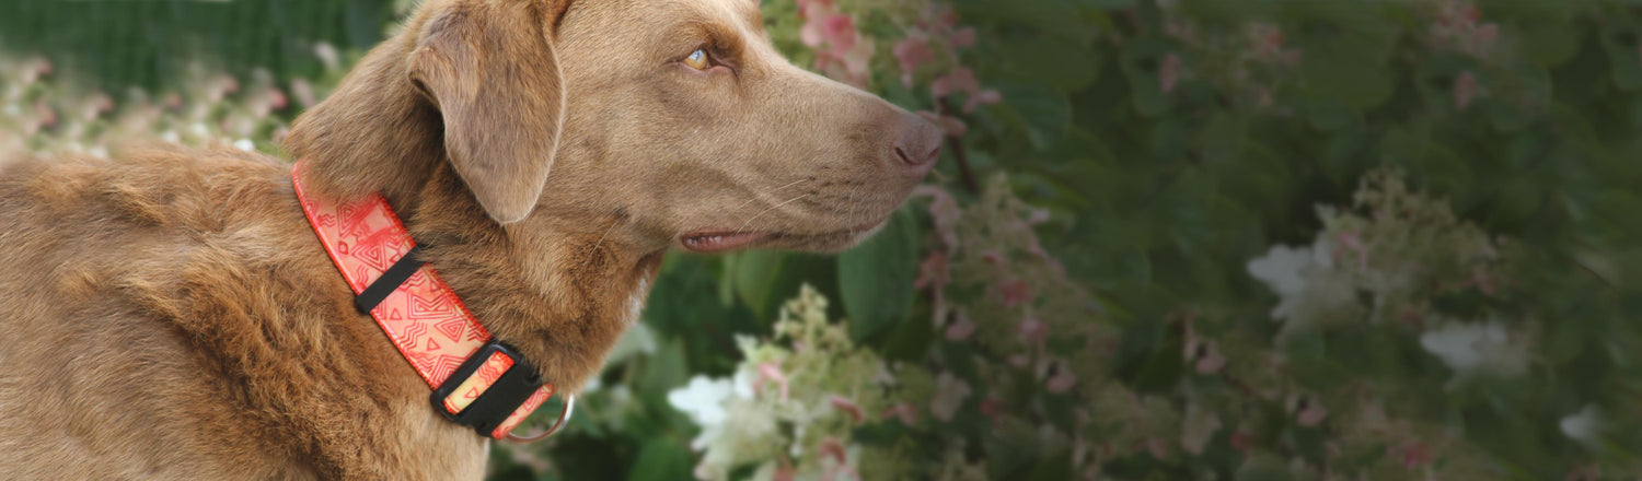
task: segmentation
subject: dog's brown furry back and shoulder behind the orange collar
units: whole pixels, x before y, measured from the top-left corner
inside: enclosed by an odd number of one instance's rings
[[[0,169],[0,478],[360,478],[338,466],[419,465],[358,463],[406,455],[373,442],[397,414],[430,420],[410,450],[479,447],[420,404],[361,419],[425,386],[373,379],[404,361],[350,315],[287,176],[181,148]]]

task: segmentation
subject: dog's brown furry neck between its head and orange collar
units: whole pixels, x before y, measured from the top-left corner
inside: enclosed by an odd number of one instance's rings
[[[576,391],[635,320],[663,251],[611,235],[619,213],[539,205],[519,223],[491,220],[445,156],[438,112],[404,77],[406,53],[371,51],[297,118],[286,149],[320,195],[381,192],[479,322]]]

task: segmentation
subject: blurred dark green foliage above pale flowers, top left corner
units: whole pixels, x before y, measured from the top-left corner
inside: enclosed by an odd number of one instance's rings
[[[46,54],[99,87],[163,89],[190,61],[319,76],[317,43],[368,49],[392,20],[392,0],[8,0],[0,48]]]

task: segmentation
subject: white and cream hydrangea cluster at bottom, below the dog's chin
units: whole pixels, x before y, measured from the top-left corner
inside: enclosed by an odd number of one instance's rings
[[[701,425],[691,447],[704,451],[695,474],[729,479],[744,465],[752,479],[880,479],[862,476],[852,428],[890,415],[892,376],[872,351],[826,317],[828,300],[805,286],[788,300],[775,337],[739,337],[744,361],[731,379],[696,376],[667,401]]]

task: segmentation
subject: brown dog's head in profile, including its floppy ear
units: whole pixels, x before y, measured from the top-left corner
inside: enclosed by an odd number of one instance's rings
[[[923,118],[783,59],[755,0],[429,0],[333,95],[396,84],[424,107],[399,121],[437,115],[425,136],[443,156],[365,169],[448,163],[511,231],[609,218],[608,235],[657,250],[847,248],[906,199],[941,141]],[[304,120],[299,156],[350,135]],[[415,141],[345,144],[381,156]]]

